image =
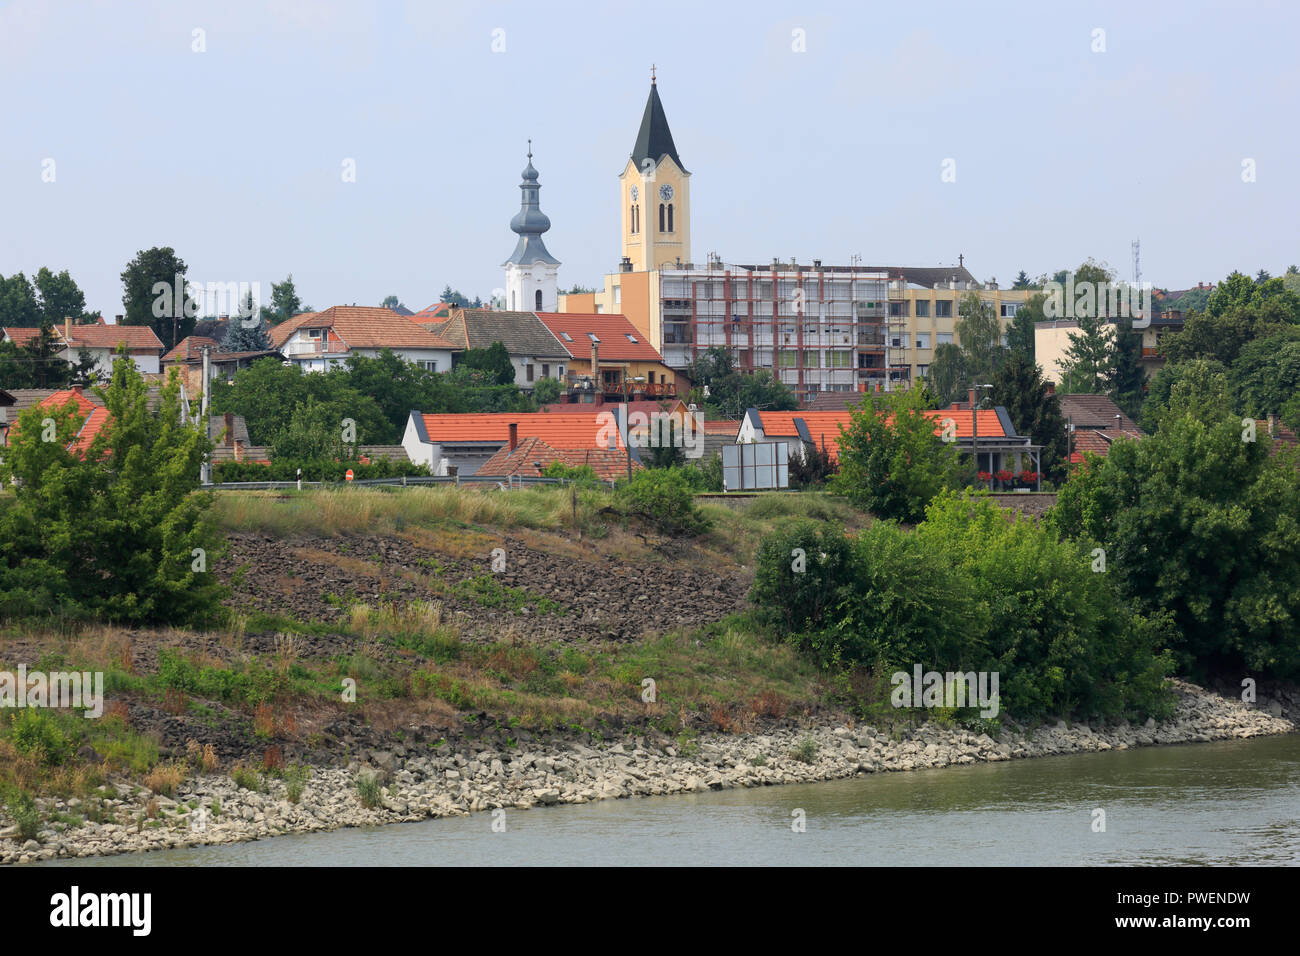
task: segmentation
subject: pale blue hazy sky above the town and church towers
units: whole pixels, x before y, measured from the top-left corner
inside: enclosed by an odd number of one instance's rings
[[[1157,286],[1280,274],[1297,26],[1183,0],[0,0],[0,274],[69,269],[109,320],[152,246],[263,300],[292,273],[317,310],[486,299],[532,138],[560,287],[599,286],[651,64],[697,261],[1132,278],[1140,238]]]

